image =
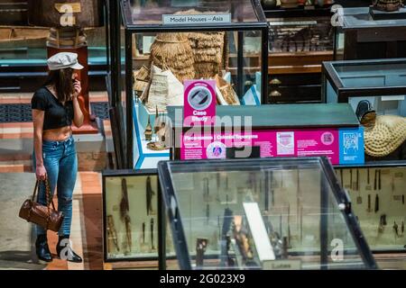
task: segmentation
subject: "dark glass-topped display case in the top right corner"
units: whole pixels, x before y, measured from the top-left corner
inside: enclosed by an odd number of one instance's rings
[[[365,6],[339,10],[336,23],[337,60],[406,57],[406,19],[374,20]]]

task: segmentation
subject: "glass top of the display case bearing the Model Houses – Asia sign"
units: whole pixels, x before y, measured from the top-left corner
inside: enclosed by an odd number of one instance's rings
[[[130,29],[184,26],[188,30],[201,30],[202,27],[217,27],[221,30],[266,26],[259,0],[122,0],[121,4],[125,26]],[[165,15],[199,15],[200,19],[192,17],[166,23]]]

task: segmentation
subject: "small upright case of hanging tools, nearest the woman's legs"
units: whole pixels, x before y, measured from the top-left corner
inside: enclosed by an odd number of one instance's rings
[[[103,173],[104,262],[144,261],[157,266],[156,170]]]

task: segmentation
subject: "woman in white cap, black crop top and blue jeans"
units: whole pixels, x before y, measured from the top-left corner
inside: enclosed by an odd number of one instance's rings
[[[72,137],[71,124],[80,127],[84,116],[78,103],[81,86],[75,70],[82,69],[78,54],[62,52],[47,61],[50,74],[45,85],[32,96],[32,121],[34,127],[34,166],[38,180],[48,180],[51,196],[58,193],[58,210],[64,220],[58,232],[56,247],[58,257],[71,262],[82,262],[70,247],[69,235],[72,220],[72,193],[78,173],[78,158]],[[45,185],[42,181],[38,202],[46,204]],[[36,227],[35,249],[38,258],[51,262],[47,231]]]

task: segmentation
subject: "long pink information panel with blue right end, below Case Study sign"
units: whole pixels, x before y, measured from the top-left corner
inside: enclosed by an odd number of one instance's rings
[[[226,158],[226,148],[260,147],[261,157],[327,156],[333,165],[364,163],[363,131],[357,129],[257,130],[250,133],[184,133],[180,158]]]

